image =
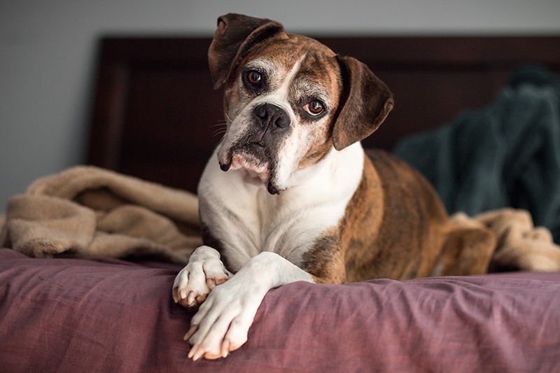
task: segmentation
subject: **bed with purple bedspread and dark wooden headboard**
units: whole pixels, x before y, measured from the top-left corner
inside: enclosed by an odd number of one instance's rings
[[[365,62],[391,87],[393,113],[363,141],[386,150],[402,139],[418,144],[409,136],[435,134],[467,109],[482,111],[521,65],[560,73],[554,37],[320,40]],[[195,192],[222,120],[221,92],[207,69],[209,43],[103,38],[87,162]],[[0,249],[0,370],[560,370],[560,272],[292,283],[269,291],[241,349],[193,362],[183,335],[194,311],[171,297],[180,269],[154,258],[45,259]]]

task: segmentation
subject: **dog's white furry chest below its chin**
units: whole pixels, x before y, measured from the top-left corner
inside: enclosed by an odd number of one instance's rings
[[[262,251],[295,265],[330,227],[337,226],[363,172],[360,143],[293,175],[280,195],[244,181],[244,171],[223,172],[211,157],[200,181],[201,218],[221,243],[232,271]]]

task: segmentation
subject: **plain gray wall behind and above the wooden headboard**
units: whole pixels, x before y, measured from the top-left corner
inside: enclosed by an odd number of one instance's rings
[[[99,36],[211,36],[229,12],[314,35],[560,36],[559,0],[1,0],[0,213],[34,179],[85,161]]]

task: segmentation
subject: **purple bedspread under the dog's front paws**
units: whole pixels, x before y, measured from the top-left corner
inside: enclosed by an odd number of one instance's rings
[[[0,249],[0,371],[560,371],[560,273],[292,283],[241,349],[193,362],[179,269]]]

